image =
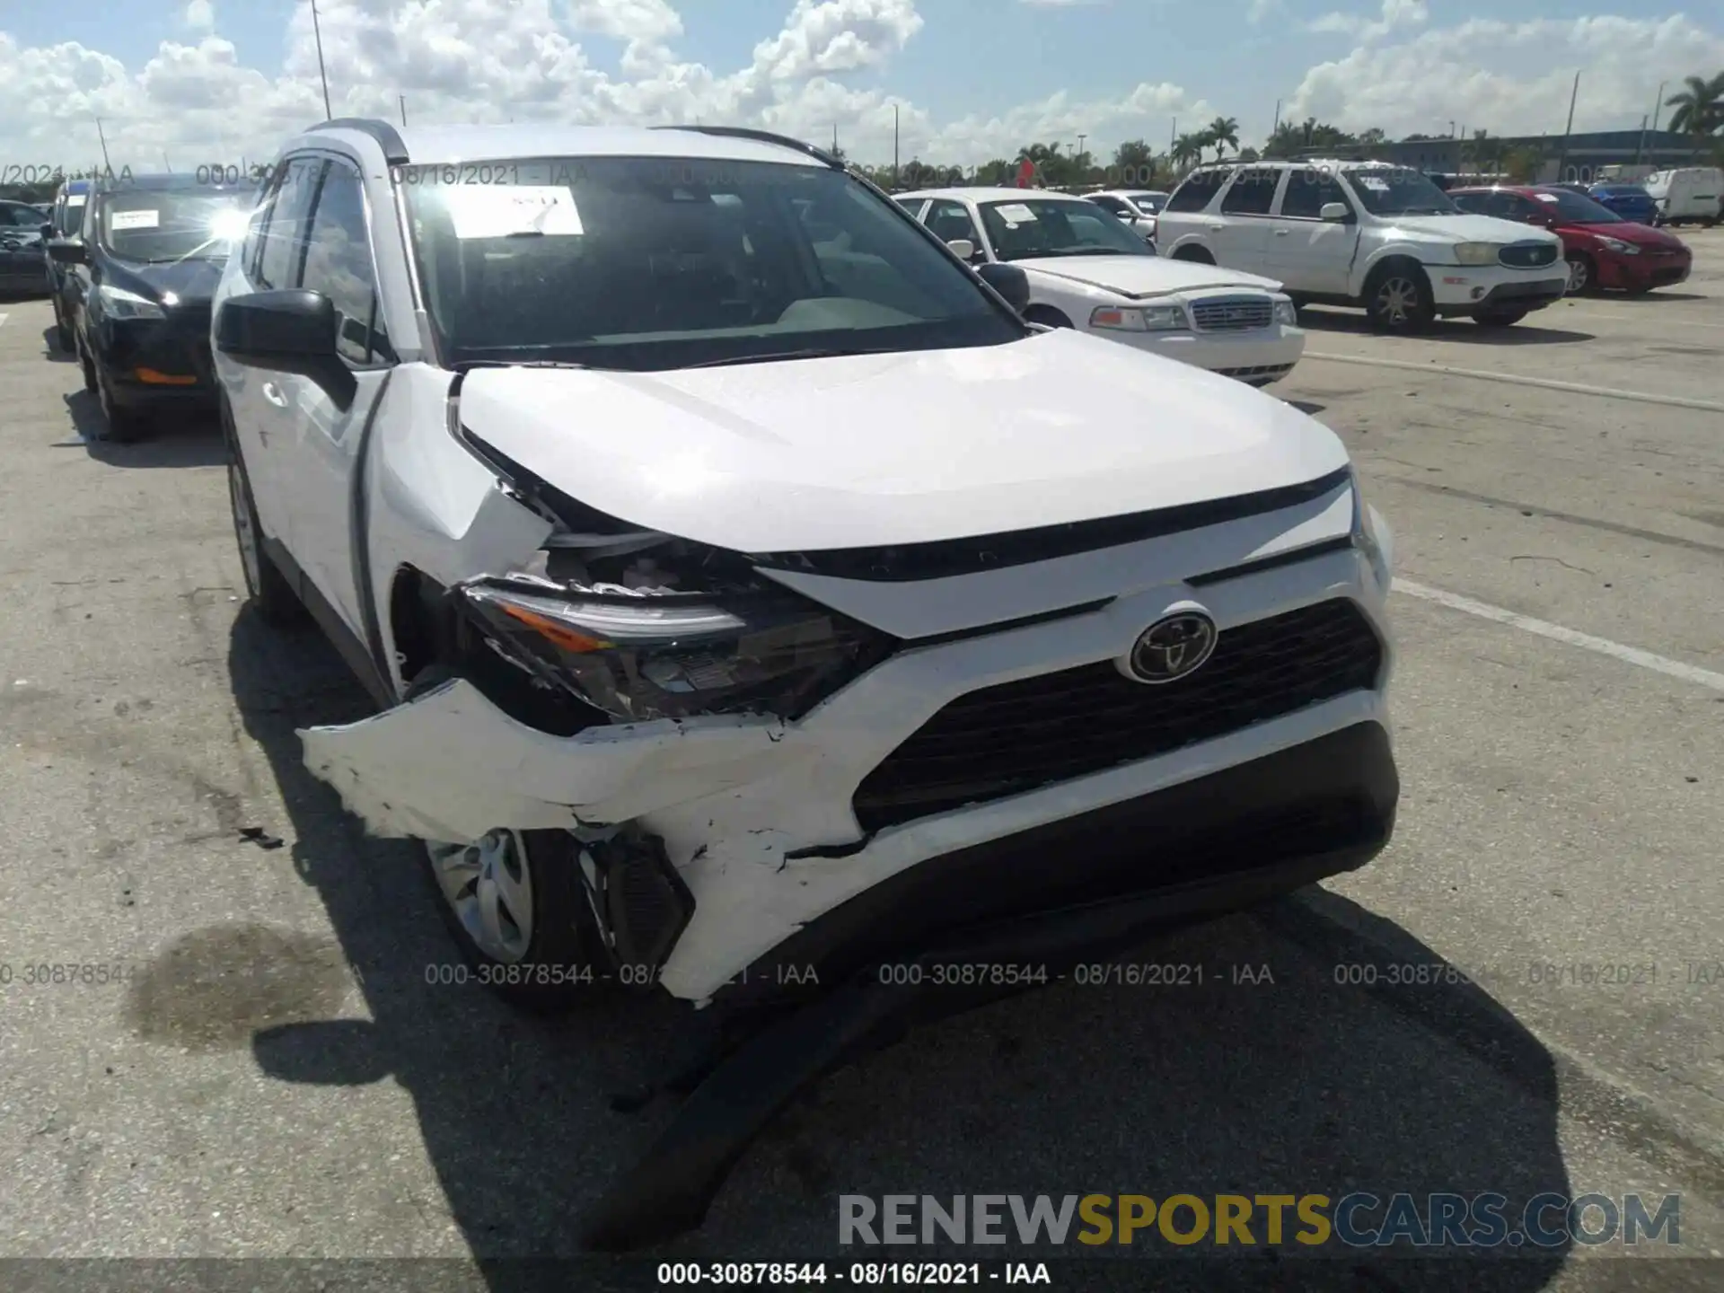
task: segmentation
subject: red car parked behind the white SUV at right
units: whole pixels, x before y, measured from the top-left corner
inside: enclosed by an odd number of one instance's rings
[[[1550,184],[1453,188],[1462,210],[1536,224],[1562,238],[1569,295],[1621,288],[1636,297],[1681,283],[1693,269],[1688,245],[1664,229],[1624,221],[1581,193]]]

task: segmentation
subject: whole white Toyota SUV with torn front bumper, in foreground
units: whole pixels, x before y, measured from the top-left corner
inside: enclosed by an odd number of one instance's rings
[[[333,121],[228,262],[252,614],[381,710],[309,767],[426,841],[500,991],[750,1021],[595,1243],[698,1222],[888,1021],[1390,838],[1390,534],[1340,440],[1022,295],[717,128]]]

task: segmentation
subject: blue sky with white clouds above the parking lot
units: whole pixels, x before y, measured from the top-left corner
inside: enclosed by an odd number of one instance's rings
[[[1165,145],[1217,114],[1391,134],[1634,128],[1724,69],[1724,2],[319,0],[334,110],[410,121],[738,121],[978,162],[1029,140]],[[303,0],[0,5],[0,166],[259,157],[322,116]],[[60,153],[71,153],[60,157]]]

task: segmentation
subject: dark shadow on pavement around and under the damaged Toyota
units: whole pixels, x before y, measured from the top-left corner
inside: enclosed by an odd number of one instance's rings
[[[512,1014],[457,964],[417,846],[371,840],[303,769],[297,728],[353,721],[369,702],[315,631],[281,634],[241,612],[229,672],[247,733],[267,753],[281,828],[362,983],[371,1022],[259,1028],[253,1053],[281,1081],[400,1083],[426,1155],[484,1284],[533,1284],[529,1257],[581,1257],[583,1212],[662,1126],[612,1112],[609,1093],[652,1069],[686,1029],[660,998],[559,1021]],[[1183,931],[1134,962],[1198,967],[1202,984],[1060,984],[914,1033],[819,1084],[745,1155],[702,1231],[633,1259],[581,1257],[543,1284],[605,1288],[660,1260],[1052,1260],[1059,1288],[1502,1290],[1546,1284],[1565,1248],[1519,1260],[1367,1262],[1296,1243],[1191,1259],[1140,1234],[1133,1248],[840,1246],[840,1195],[1498,1191],[1512,1205],[1569,1193],[1553,1064],[1483,991],[1424,984],[1403,996],[1338,983],[1388,960],[1359,933],[1374,917],[1310,895]],[[1377,921],[1396,962],[1441,965]],[[1246,981],[1236,967],[1248,967]],[[447,978],[447,976],[445,976]],[[341,1207],[307,1198],[303,1207]],[[1288,1224],[1288,1236],[1295,1231]],[[1379,1214],[1381,1215],[1381,1214]],[[1262,1214],[1253,1222],[1255,1240]],[[395,1243],[398,1240],[384,1240]],[[1234,1248],[1233,1252],[1241,1252]],[[1143,1265],[1133,1257],[1162,1257]],[[1507,1250],[1502,1252],[1507,1255]],[[1371,1269],[1365,1269],[1367,1264]],[[572,1274],[571,1274],[572,1271]],[[1377,1274],[1381,1272],[1381,1274]],[[479,1279],[478,1276],[471,1276]],[[652,1284],[648,1284],[652,1286]],[[440,1284],[441,1288],[441,1284]]]

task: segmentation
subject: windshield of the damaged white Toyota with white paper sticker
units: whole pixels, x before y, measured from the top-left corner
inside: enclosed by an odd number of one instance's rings
[[[1024,336],[914,221],[843,171],[683,157],[465,171],[491,183],[440,183],[436,167],[405,167],[398,181],[453,364],[655,371]]]

